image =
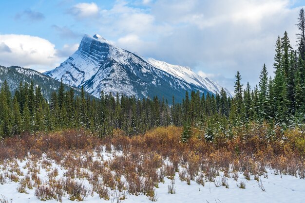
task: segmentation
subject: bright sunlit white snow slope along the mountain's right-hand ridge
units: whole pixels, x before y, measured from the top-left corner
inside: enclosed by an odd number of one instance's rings
[[[187,83],[192,83],[194,85],[203,87],[215,94],[219,93],[222,89],[222,87],[220,85],[218,85],[217,83],[210,80],[210,78],[208,78],[208,77],[203,78],[200,75],[192,72],[190,67],[172,65],[172,64],[169,64],[164,61],[156,60],[154,58],[148,58],[147,61],[150,64],[152,64],[152,66],[154,66],[162,71],[165,71],[165,72],[173,75],[174,77],[177,77]],[[232,94],[229,92],[229,90],[227,90],[226,88],[224,88],[224,90],[227,92],[227,94],[229,96],[232,96]]]

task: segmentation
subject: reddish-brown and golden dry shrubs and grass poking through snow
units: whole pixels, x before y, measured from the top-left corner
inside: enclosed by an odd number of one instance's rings
[[[164,177],[173,180],[176,174],[189,185],[191,181],[203,186],[214,182],[227,188],[228,178],[261,180],[259,177],[267,176],[267,168],[304,178],[304,156],[290,134],[303,135],[292,130],[283,139],[276,131],[267,140],[264,126],[250,129],[229,140],[217,137],[213,143],[198,140],[194,129],[186,144],[180,142],[182,129],[178,127],[157,128],[133,137],[115,130],[113,137],[104,139],[75,130],[23,134],[0,143],[0,184],[19,182],[19,192],[35,189],[41,200],[61,201],[67,194],[72,201],[83,201],[94,192],[110,200],[116,191],[118,201],[126,193],[155,201],[158,184],[164,183]],[[111,158],[105,159],[105,154]],[[27,173],[22,173],[17,159],[26,160],[22,168]],[[62,168],[62,178],[58,178],[55,164]],[[41,170],[46,171],[47,180],[40,179]],[[239,187],[245,188],[245,183],[240,182]],[[173,181],[168,189],[175,193]]]

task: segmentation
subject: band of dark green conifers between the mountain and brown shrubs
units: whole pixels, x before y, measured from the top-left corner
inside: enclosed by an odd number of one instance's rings
[[[276,41],[272,78],[263,65],[259,84],[243,88],[241,75],[236,74],[235,95],[229,97],[222,89],[218,94],[206,95],[186,92],[181,103],[163,98],[105,94],[92,99],[81,89],[80,96],[73,89],[53,92],[50,101],[41,88],[20,82],[12,94],[6,81],[0,89],[0,136],[22,132],[60,129],[88,129],[100,137],[121,129],[127,135],[141,134],[159,126],[184,126],[182,141],[187,142],[191,128],[199,128],[202,138],[212,141],[232,130],[251,123],[268,124],[275,128],[292,128],[305,123],[305,18],[301,9],[298,18],[298,48],[290,45],[287,32]]]

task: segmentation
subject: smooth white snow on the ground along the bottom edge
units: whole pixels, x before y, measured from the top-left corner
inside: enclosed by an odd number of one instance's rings
[[[114,156],[122,155],[119,151],[106,152],[102,151],[98,156],[93,157],[94,160],[100,160],[101,162],[112,160]],[[44,164],[42,160],[48,160],[50,165]],[[11,163],[17,163],[18,166]],[[38,177],[41,179],[41,185],[43,185],[49,179],[49,173],[57,168],[58,175],[56,179],[65,178],[64,172],[67,170],[60,165],[57,165],[55,161],[49,160],[46,157],[38,160],[37,165],[35,162],[31,162],[30,159],[25,160],[14,160],[10,163],[2,163],[0,165],[0,176],[10,174],[15,171],[19,175],[19,180],[22,179],[26,174],[30,174],[29,170],[33,167],[38,168]],[[250,176],[250,180],[247,180],[243,173],[238,173],[238,179],[235,180],[232,177],[233,174],[229,174],[227,178],[226,186],[221,185],[221,179],[224,178],[224,173],[220,172],[219,176],[215,178],[215,182],[209,182],[206,180],[204,186],[197,184],[195,181],[191,181],[190,185],[186,181],[179,179],[179,173],[177,172],[173,180],[164,178],[164,183],[159,183],[158,188],[155,189],[155,198],[158,203],[305,203],[305,180],[299,179],[298,177],[275,174],[273,170],[268,169],[267,172],[260,178],[262,180],[263,187],[266,191],[258,185],[258,181],[254,180],[254,176]],[[89,184],[86,178],[76,179],[77,182],[82,183],[86,188],[92,191],[92,185]],[[240,188],[240,183],[245,183],[245,189]],[[173,184],[174,183],[174,184]],[[215,184],[216,183],[216,184]],[[169,194],[169,185],[173,185],[174,194]],[[5,183],[0,184],[0,200],[7,199],[12,203],[39,203],[42,202],[35,196],[35,187],[33,189],[26,188],[26,193],[19,193],[17,188],[19,187],[18,182],[9,181],[6,178]],[[3,197],[1,196],[3,195]],[[126,199],[119,200],[119,197],[124,195]],[[149,197],[141,194],[138,196],[128,194],[127,190],[118,192],[117,190],[109,190],[110,200],[100,199],[99,195],[95,192],[89,192],[88,197],[85,198],[84,202],[88,203],[151,203]],[[0,201],[1,202],[1,201]],[[47,200],[46,202],[55,203],[56,200]],[[69,195],[64,194],[62,198],[63,203],[71,202]]]

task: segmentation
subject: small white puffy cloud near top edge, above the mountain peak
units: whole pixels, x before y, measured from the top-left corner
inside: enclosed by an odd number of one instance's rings
[[[87,18],[96,16],[98,14],[98,6],[96,3],[77,3],[68,13],[76,16],[77,18]]]

